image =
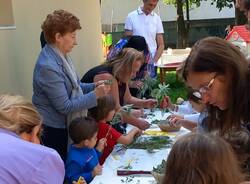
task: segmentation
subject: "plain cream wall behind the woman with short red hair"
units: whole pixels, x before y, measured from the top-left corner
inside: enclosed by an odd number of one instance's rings
[[[12,0],[15,30],[0,30],[0,94],[32,96],[33,69],[41,50],[41,23],[55,9],[75,14],[81,22],[72,58],[81,77],[103,60],[99,0]]]

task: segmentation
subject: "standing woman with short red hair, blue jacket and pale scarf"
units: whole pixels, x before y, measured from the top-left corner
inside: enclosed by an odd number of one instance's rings
[[[97,105],[97,98],[110,90],[109,85],[81,83],[69,53],[81,29],[79,19],[65,11],[47,15],[42,30],[47,44],[42,49],[33,75],[33,103],[43,117],[44,145],[54,148],[66,159],[67,122],[86,116]]]

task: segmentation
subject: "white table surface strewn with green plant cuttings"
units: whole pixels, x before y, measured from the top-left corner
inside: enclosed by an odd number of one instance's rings
[[[161,112],[154,113],[155,117],[147,119],[151,122],[154,119],[164,119],[169,113],[165,113],[161,116]],[[130,129],[131,126],[128,127]],[[152,125],[149,129],[153,132],[158,132],[160,129]],[[146,131],[148,132],[148,131]],[[176,137],[186,134],[189,130],[181,128],[180,131],[175,133],[169,133],[169,137],[174,141]],[[131,170],[143,170],[151,171],[153,167],[162,162],[162,159],[166,159],[169,154],[170,148],[156,150],[154,153],[149,153],[142,149],[121,149],[121,146],[117,145],[111,155],[106,159],[103,165],[103,173],[100,176],[96,176],[91,184],[156,184],[152,175],[130,175],[130,176],[117,176],[117,170],[123,170],[124,166],[131,165]]]

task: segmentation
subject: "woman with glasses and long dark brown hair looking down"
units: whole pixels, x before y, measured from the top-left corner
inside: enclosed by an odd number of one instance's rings
[[[249,132],[249,63],[237,47],[217,37],[198,41],[183,66],[183,78],[207,104],[208,117],[203,124],[208,132],[216,131],[223,137],[239,130]],[[241,151],[249,155],[245,148]],[[246,170],[250,168],[248,160]]]

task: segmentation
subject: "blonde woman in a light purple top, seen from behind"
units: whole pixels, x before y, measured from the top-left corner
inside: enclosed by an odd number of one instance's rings
[[[0,183],[62,184],[59,154],[39,145],[42,119],[21,96],[0,95]]]

